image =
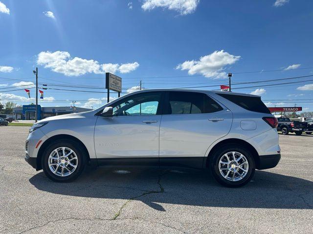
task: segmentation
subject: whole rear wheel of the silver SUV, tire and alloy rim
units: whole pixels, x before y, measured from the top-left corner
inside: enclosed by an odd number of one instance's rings
[[[255,162],[246,148],[229,144],[213,153],[210,169],[220,184],[227,187],[240,187],[253,177]]]

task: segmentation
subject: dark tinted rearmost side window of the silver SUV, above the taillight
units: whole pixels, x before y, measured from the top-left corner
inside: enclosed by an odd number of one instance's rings
[[[217,94],[227,100],[235,103],[236,105],[253,112],[270,114],[270,111],[263,103],[260,97],[233,95],[233,94]]]

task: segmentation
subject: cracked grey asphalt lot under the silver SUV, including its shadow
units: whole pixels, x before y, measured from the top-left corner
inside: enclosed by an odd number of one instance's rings
[[[313,136],[280,135],[245,187],[196,170],[88,169],[55,183],[24,161],[29,127],[0,127],[0,233],[313,233]]]

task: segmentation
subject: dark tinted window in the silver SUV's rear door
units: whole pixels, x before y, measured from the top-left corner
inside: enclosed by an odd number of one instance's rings
[[[169,115],[203,114],[221,110],[223,108],[206,94],[171,91],[165,113]]]

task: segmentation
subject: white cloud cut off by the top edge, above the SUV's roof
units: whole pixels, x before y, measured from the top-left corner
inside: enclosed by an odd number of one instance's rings
[[[187,15],[195,12],[199,2],[200,0],[144,0],[141,8],[150,11],[162,7]]]

